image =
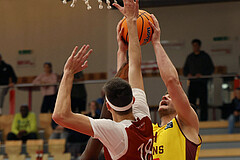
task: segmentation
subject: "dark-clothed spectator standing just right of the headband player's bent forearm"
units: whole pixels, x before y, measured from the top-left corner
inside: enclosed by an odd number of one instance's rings
[[[83,72],[78,72],[74,75],[74,82],[84,80]],[[86,110],[87,92],[84,84],[73,84],[71,93],[72,112],[81,113]]]

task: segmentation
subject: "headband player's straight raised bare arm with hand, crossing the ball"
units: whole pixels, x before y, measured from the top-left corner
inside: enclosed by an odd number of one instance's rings
[[[124,7],[114,3],[118,10],[126,17],[129,35],[129,84],[132,88],[144,90],[141,72],[141,48],[137,32],[137,18],[139,12],[138,0],[124,0]]]

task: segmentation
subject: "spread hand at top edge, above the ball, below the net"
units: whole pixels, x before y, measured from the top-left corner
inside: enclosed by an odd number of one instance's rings
[[[139,10],[139,0],[123,0],[124,7],[121,7],[117,3],[113,3],[113,6],[116,7],[127,19],[137,20],[138,10]]]

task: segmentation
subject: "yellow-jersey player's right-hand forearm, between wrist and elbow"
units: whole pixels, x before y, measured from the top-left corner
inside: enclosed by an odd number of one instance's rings
[[[160,71],[160,75],[165,83],[168,85],[168,82],[174,80],[179,81],[178,73],[168,55],[166,54],[161,43],[154,43],[154,51],[156,54],[157,64]]]

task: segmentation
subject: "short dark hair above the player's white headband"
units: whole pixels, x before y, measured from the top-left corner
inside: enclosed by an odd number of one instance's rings
[[[132,88],[129,83],[121,78],[113,78],[103,86],[109,102],[117,107],[125,107],[133,99]]]

